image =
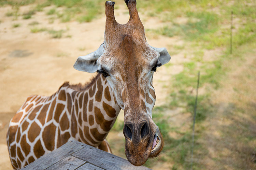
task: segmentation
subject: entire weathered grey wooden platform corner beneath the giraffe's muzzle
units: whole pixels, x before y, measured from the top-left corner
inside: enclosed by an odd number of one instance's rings
[[[78,141],[70,141],[22,170],[150,170]]]

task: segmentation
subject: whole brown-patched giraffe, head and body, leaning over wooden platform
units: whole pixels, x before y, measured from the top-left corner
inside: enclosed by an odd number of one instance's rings
[[[147,43],[136,0],[125,3],[130,19],[119,24],[115,3],[106,1],[104,42],[74,64],[76,70],[98,75],[85,86],[64,83],[50,97],[28,97],[11,119],[6,140],[13,168],[24,167],[71,139],[111,152],[105,137],[120,109],[129,162],[140,166],[161,152],[162,135],[152,120],[152,78],[171,57],[166,48]]]

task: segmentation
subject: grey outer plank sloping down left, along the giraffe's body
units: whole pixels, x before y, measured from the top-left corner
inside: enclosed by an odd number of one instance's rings
[[[72,140],[58,149],[54,150],[53,152],[50,152],[46,155],[41,156],[39,159],[35,160],[33,163],[28,164],[26,167],[22,168],[22,170],[27,169],[36,169],[36,170],[43,170],[46,169],[53,164],[59,162],[63,158],[71,155],[72,153],[85,148],[86,144]]]

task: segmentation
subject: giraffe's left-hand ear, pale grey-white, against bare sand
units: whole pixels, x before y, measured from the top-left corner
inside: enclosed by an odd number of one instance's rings
[[[96,51],[88,55],[78,57],[73,67],[79,71],[85,71],[89,73],[96,72],[98,69],[97,60],[104,52],[104,49],[105,41],[100,45],[100,47]]]

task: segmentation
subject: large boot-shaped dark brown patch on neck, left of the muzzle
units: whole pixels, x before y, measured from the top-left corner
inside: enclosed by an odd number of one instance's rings
[[[94,112],[95,121],[100,125],[101,129],[106,132],[109,131],[111,129],[112,121],[105,120],[98,107],[94,107]]]

